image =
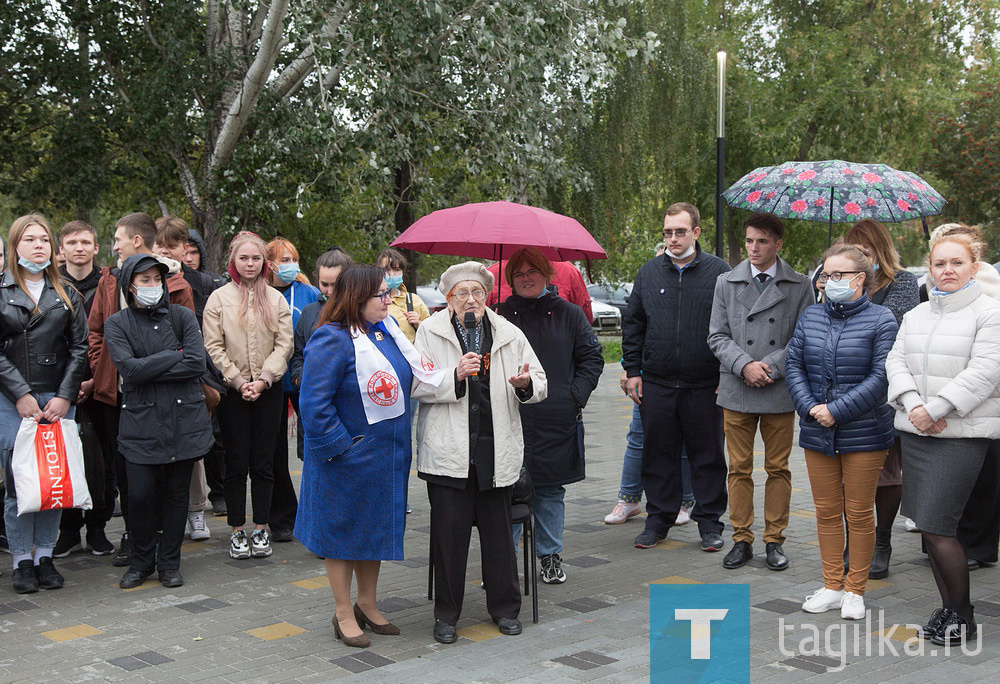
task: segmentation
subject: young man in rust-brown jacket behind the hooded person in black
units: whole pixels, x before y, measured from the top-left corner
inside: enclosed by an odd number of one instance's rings
[[[148,214],[135,212],[123,216],[115,223],[113,251],[118,255],[119,265],[134,254],[152,254],[152,246],[155,242],[156,224]],[[164,260],[163,257],[160,259]],[[165,261],[173,262],[172,259]],[[168,268],[172,274],[166,282],[170,303],[180,304],[194,311],[191,286],[180,274],[180,264],[177,262],[168,263]],[[128,482],[125,476],[125,461],[118,452],[121,383],[104,341],[104,322],[122,307],[122,294],[118,286],[119,273],[118,267],[101,269],[101,279],[97,284],[97,293],[88,316],[90,335],[87,356],[90,361],[90,370],[94,376],[94,399],[101,402],[101,408],[105,413],[103,431],[98,430],[98,438],[105,451],[114,454],[118,494],[121,498],[122,517],[125,520],[125,535],[122,536],[122,543],[112,565],[125,567],[129,564],[131,552],[128,541]]]

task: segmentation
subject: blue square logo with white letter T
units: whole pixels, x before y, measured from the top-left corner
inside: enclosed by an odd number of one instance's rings
[[[650,585],[650,681],[749,683],[753,598],[745,584]]]

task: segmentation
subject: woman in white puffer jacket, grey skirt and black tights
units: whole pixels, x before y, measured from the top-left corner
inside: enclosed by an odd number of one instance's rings
[[[976,634],[969,570],[955,537],[990,440],[1000,438],[1000,302],[975,281],[982,243],[930,245],[936,286],[903,317],[886,360],[903,449],[903,515],[923,535],[942,607],[923,628],[937,644]]]

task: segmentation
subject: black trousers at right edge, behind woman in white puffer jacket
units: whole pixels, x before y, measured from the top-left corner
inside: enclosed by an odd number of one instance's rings
[[[905,477],[905,474],[904,474]],[[990,448],[972,488],[969,501],[958,521],[958,542],[965,555],[981,563],[997,562],[1000,543],[1000,440]]]

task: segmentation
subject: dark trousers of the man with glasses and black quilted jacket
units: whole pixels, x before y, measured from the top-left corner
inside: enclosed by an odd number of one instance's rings
[[[681,507],[681,448],[687,447],[698,532],[722,533],[726,491],[722,409],[715,387],[675,388],[642,383],[642,487],[646,528],[666,535]]]

